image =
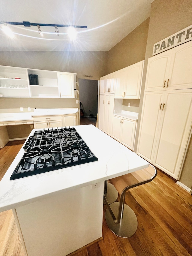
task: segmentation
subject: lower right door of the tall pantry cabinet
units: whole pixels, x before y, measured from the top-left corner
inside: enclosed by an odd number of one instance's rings
[[[177,179],[192,124],[192,89],[166,92],[154,165]]]

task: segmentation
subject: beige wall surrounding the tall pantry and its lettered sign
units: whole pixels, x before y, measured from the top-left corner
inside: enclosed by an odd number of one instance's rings
[[[191,0],[155,0],[151,5],[151,14],[149,22],[149,32],[147,39],[145,65],[143,71],[142,92],[140,98],[140,111],[138,126],[140,125],[140,113],[143,103],[143,92],[146,80],[146,70],[148,58],[152,56],[153,45],[158,41],[190,26],[192,24],[192,1]],[[138,129],[136,139],[138,138]],[[136,140],[137,147],[137,140]],[[189,150],[185,161],[185,167],[181,176],[182,183],[192,188],[192,151]]]

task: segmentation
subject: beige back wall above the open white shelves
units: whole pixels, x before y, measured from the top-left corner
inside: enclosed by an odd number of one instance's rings
[[[78,78],[99,80],[107,74],[107,55],[106,51],[2,51],[0,65],[72,72]]]

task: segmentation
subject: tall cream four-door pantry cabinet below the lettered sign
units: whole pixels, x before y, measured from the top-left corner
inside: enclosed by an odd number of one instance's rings
[[[137,154],[177,179],[192,124],[192,41],[149,58]]]

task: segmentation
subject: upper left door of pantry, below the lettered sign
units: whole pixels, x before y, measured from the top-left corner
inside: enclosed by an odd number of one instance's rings
[[[172,50],[148,59],[145,91],[166,90]]]

